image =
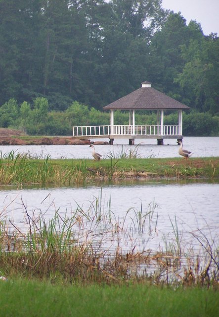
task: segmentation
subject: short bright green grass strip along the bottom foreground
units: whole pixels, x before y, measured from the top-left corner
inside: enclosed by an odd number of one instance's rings
[[[0,316],[219,316],[219,292],[198,287],[52,285],[17,279],[0,281],[0,294]]]

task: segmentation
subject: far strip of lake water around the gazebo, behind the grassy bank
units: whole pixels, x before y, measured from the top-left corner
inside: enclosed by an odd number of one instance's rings
[[[91,141],[109,141],[109,139],[99,139]],[[135,151],[140,158],[177,158],[178,145],[175,139],[164,140],[165,145],[157,145],[154,139],[136,139],[135,145],[127,145],[128,140],[115,139],[114,145],[96,145],[96,152],[107,158],[113,154],[114,157],[121,153]],[[192,151],[192,157],[219,157],[219,137],[184,137],[183,147]],[[51,159],[92,159],[91,148],[88,145],[32,145],[32,146],[1,146],[2,155],[14,151],[15,153],[29,153],[34,157],[44,158],[48,155]]]

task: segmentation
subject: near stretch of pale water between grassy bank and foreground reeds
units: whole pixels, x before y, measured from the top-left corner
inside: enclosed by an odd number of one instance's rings
[[[219,243],[219,182],[147,180],[102,188],[0,189],[1,219],[6,216],[23,232],[25,208],[46,220],[55,211],[62,217],[83,211],[89,220],[84,216],[74,226],[77,237],[95,241],[103,250],[119,246],[126,252],[135,246],[135,251],[166,251],[175,245],[174,231],[187,252],[201,249],[194,235]],[[96,221],[97,213],[101,221]]]

